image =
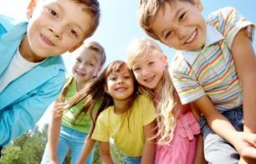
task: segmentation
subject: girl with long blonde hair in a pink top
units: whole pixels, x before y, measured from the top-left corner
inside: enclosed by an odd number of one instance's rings
[[[140,93],[154,100],[157,109],[156,164],[193,164],[200,133],[189,105],[181,105],[168,72],[166,55],[150,39],[137,39],[128,51],[128,65]]]

